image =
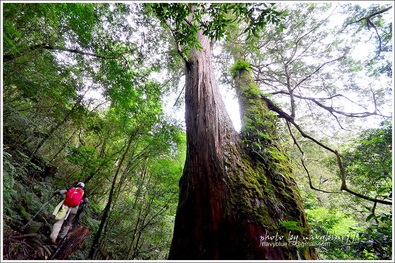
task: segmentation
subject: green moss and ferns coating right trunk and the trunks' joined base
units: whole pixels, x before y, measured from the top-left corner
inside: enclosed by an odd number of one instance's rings
[[[307,221],[302,198],[294,181],[289,157],[276,132],[277,118],[269,111],[261,92],[243,63],[232,67],[236,93],[240,101],[242,130],[240,145],[248,154],[237,164],[230,180],[231,206],[240,219],[262,225],[269,231],[287,234],[283,222],[295,222],[292,231],[306,234]],[[239,74],[237,74],[239,73]],[[237,152],[236,152],[237,154]],[[230,158],[230,162],[233,160]],[[232,164],[229,164],[232,167]],[[234,164],[233,164],[234,167]],[[293,223],[289,223],[293,224]],[[293,225],[290,225],[292,228]],[[294,248],[289,248],[294,258]],[[306,258],[309,258],[307,256]]]

